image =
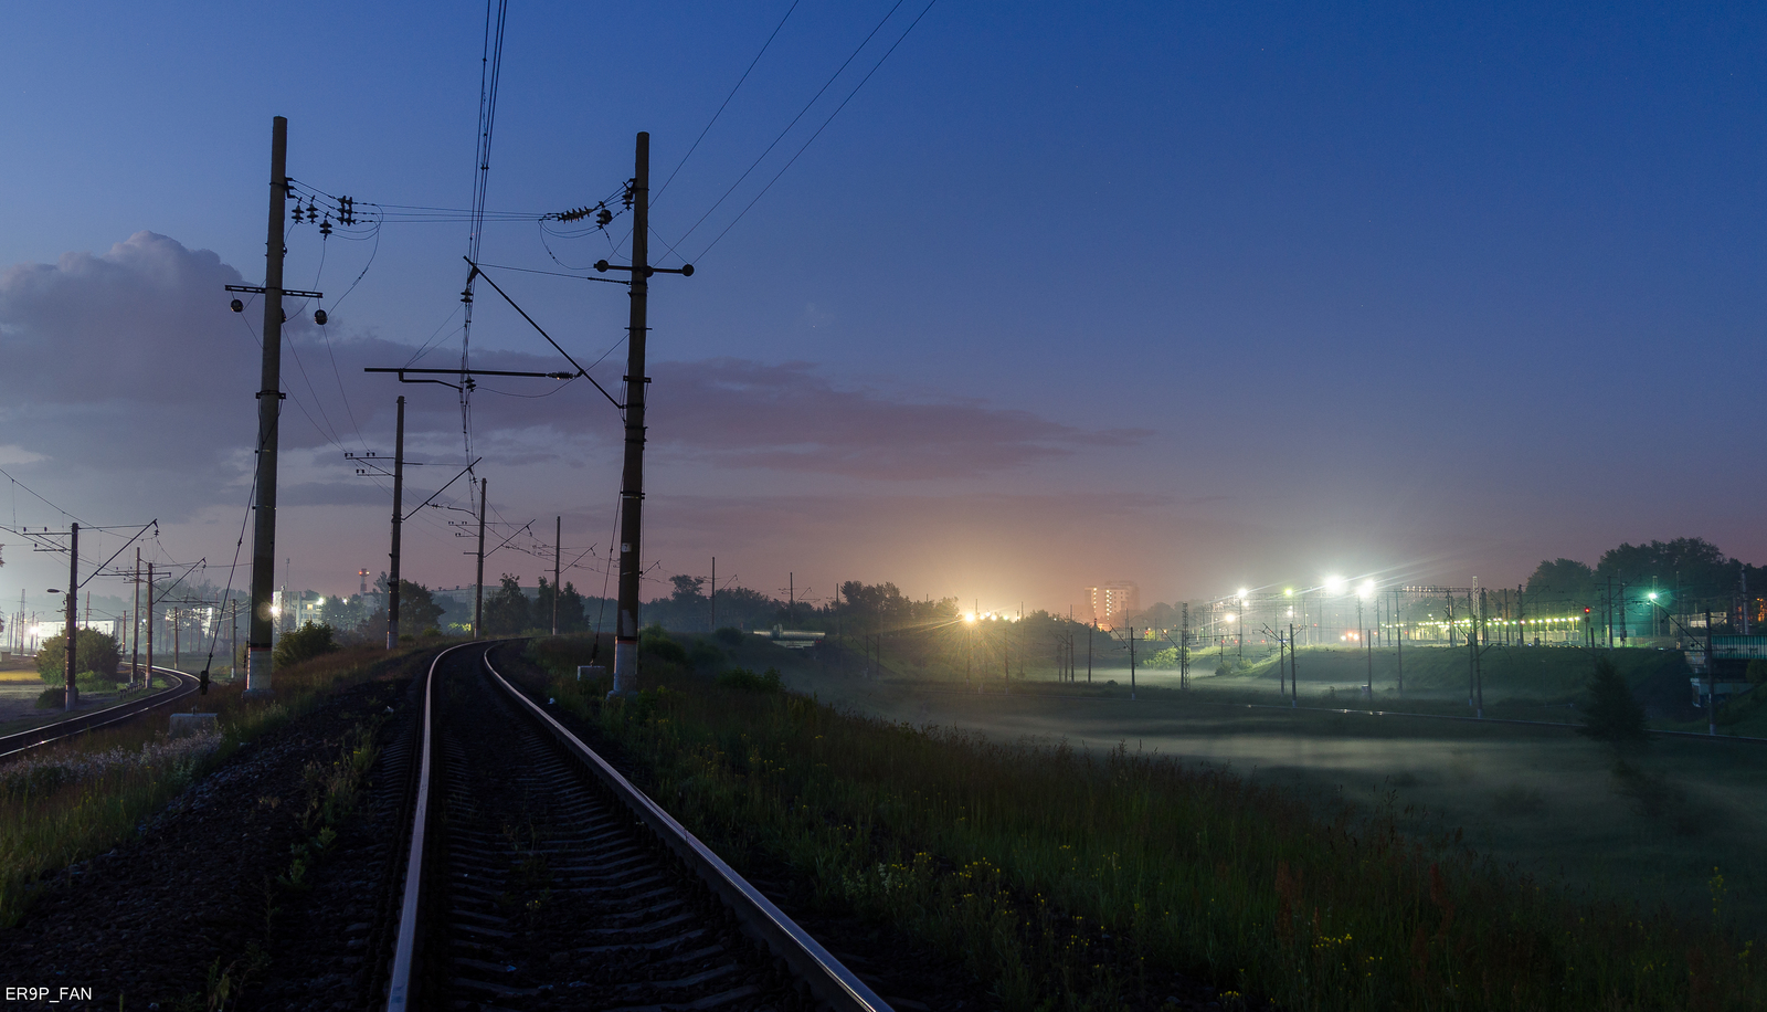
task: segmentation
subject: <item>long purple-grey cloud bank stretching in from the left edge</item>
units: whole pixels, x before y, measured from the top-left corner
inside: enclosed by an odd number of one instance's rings
[[[81,481],[81,494],[127,483],[173,517],[249,479],[256,435],[262,310],[228,310],[240,272],[207,249],[138,232],[104,253],[0,271],[0,425],[11,458]],[[254,311],[258,310],[258,311]],[[406,395],[408,444],[431,458],[461,446],[459,395],[401,386],[364,366],[458,361],[373,334],[322,331],[306,311],[284,326],[284,467],[322,469],[343,449],[392,451],[394,398]],[[615,356],[617,359],[618,356]],[[564,368],[546,350],[484,350],[489,370]],[[595,370],[618,393],[624,363]],[[841,382],[811,363],[747,359],[656,363],[650,441],[663,460],[721,469],[878,479],[961,478],[1133,444],[1145,430],[1087,430],[979,398],[887,393]],[[445,377],[444,377],[445,379]],[[580,464],[617,451],[618,412],[585,380],[486,379],[472,400],[475,451],[500,465]],[[339,464],[341,465],[341,464]],[[313,481],[302,485],[302,479]],[[284,474],[290,504],[364,502],[325,474]],[[224,497],[231,497],[226,494]]]

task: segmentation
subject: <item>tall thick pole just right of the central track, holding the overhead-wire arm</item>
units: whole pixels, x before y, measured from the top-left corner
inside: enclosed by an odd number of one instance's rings
[[[640,540],[645,501],[645,338],[650,334],[650,134],[633,156],[633,281],[626,340],[626,460],[620,471],[620,602],[613,633],[613,695],[638,692]]]

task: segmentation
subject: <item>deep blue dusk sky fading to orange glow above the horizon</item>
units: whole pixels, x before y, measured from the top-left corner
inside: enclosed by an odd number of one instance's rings
[[[223,285],[263,280],[270,119],[311,191],[465,209],[484,35],[451,2],[9,11],[0,522],[157,518],[150,557],[228,582],[262,306]],[[1763,50],[1751,4],[511,0],[481,258],[617,391],[627,299],[580,278],[629,218],[537,219],[650,133],[652,257],[696,267],[650,288],[656,593],[714,556],[984,610],[1514,586],[1677,536],[1760,563]],[[387,568],[391,483],[345,455],[391,456],[396,396],[406,508],[468,460],[452,389],[360,372],[458,366],[468,225],[383,216],[286,232],[325,299],[286,303],[277,584]],[[475,366],[569,368],[477,292]],[[562,517],[599,593],[617,410],[488,379],[470,442],[488,577],[550,570]],[[436,502],[405,575],[470,584],[466,483]],[[53,607],[65,561],[0,541],[5,610]]]

